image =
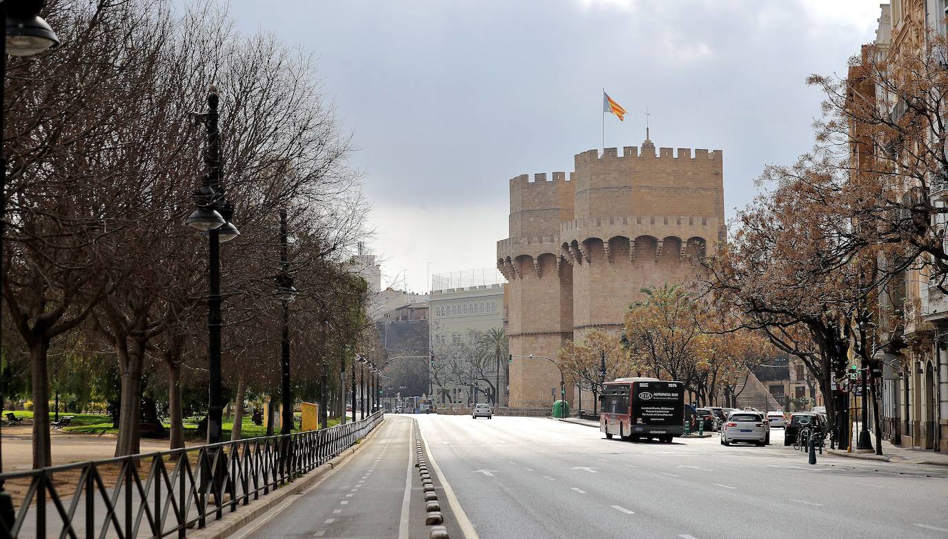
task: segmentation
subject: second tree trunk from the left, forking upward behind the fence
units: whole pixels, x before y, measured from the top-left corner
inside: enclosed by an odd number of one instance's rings
[[[131,349],[124,338],[116,341],[116,355],[121,372],[121,400],[118,415],[118,442],[116,456],[136,455],[139,453],[139,434],[141,421],[141,363],[145,353],[145,343],[132,340]]]

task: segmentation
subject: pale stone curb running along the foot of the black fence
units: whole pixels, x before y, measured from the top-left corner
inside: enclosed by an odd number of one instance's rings
[[[383,423],[385,423],[384,417],[378,422],[377,425],[375,425],[375,428],[372,429],[368,435],[362,438],[359,443],[355,443],[353,446],[342,450],[339,455],[329,459],[316,470],[303,475],[292,483],[283,486],[283,488],[277,489],[277,492],[275,493],[267,494],[263,499],[258,500],[256,503],[251,502],[250,505],[246,506],[246,509],[238,509],[237,511],[228,512],[224,518],[211,522],[203,530],[195,530],[193,533],[189,533],[188,537],[193,539],[225,539],[226,537],[236,533],[238,530],[241,530],[242,528],[246,527],[246,525],[262,516],[265,512],[274,509],[281,502],[286,501],[285,498],[288,496],[302,493],[309,487],[313,486],[313,483],[315,483],[320,477],[345,464],[346,461],[348,461],[366,446],[366,441],[375,436],[375,433],[378,432],[378,429]],[[239,507],[244,508],[244,506]]]

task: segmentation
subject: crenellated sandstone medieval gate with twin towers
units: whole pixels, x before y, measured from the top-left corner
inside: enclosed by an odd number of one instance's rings
[[[617,332],[641,288],[688,281],[690,256],[724,240],[720,150],[606,148],[575,156],[567,179],[510,180],[510,235],[497,243],[508,281],[510,353],[556,360],[567,340],[593,328]],[[559,371],[515,359],[510,406],[549,406]],[[574,400],[572,390],[569,400]],[[584,399],[585,400],[585,399]]]

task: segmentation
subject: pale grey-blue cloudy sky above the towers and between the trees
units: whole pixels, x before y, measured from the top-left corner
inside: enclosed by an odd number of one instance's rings
[[[606,145],[724,152],[728,217],[767,163],[811,147],[810,73],[845,74],[873,0],[231,0],[249,31],[312,51],[374,203],[383,286],[490,268],[508,179]],[[684,194],[683,194],[684,195]],[[683,196],[683,204],[684,201]]]

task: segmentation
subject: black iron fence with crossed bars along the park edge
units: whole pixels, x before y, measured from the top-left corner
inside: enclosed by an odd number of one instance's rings
[[[15,509],[0,538],[185,537],[317,468],[381,419],[0,474]]]

